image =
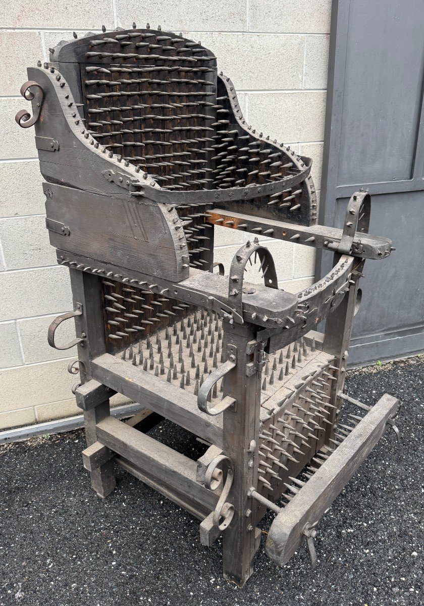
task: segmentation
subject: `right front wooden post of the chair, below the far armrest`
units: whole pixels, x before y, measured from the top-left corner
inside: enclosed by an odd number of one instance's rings
[[[339,261],[339,253],[334,255],[334,265]],[[355,313],[356,298],[358,292],[358,284],[360,273],[362,273],[363,264],[365,260],[361,261],[357,265],[348,292],[345,294],[343,301],[340,305],[327,316],[325,322],[325,336],[323,342],[323,350],[336,356],[336,360],[333,362],[333,366],[336,366],[339,370],[337,371],[337,381],[331,381],[331,404],[336,406],[336,409],[332,409],[333,412],[329,416],[328,420],[331,421],[332,425],[326,425],[325,430],[325,443],[329,445],[328,440],[333,436],[334,423],[337,422],[338,413],[340,410],[341,402],[337,394],[343,390],[345,384],[345,370],[348,361],[348,349],[351,338],[351,329],[353,326],[353,317]]]

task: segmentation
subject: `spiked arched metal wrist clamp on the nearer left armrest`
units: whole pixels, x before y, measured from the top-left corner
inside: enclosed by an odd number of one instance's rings
[[[274,259],[268,250],[260,246],[257,238],[254,239],[253,245],[251,242],[246,242],[234,255],[231,261],[230,281],[228,282],[228,303],[237,312],[240,317],[243,317],[243,276],[245,267],[252,255],[259,256],[260,268],[263,271],[262,278],[265,280],[265,286],[270,288],[278,288],[277,272],[274,264]],[[251,261],[250,261],[251,263]]]

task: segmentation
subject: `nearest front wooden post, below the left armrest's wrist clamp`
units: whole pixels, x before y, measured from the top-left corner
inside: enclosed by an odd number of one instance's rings
[[[248,342],[256,339],[252,325],[230,325],[223,322],[224,347],[237,347],[237,365],[224,378],[224,395],[236,399],[236,410],[224,411],[224,454],[234,466],[234,480],[228,501],[235,513],[230,526],[222,535],[222,564],[224,577],[239,587],[253,572],[252,559],[256,551],[256,528],[253,526],[251,486],[257,485],[259,444],[260,370],[246,375],[246,365],[254,354],[247,354]],[[256,347],[260,347],[256,345]]]

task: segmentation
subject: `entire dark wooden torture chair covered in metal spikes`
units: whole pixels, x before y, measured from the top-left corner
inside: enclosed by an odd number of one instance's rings
[[[237,585],[267,510],[270,558],[285,564],[306,538],[314,563],[317,523],[396,428],[395,398],[369,407],[343,391],[363,264],[393,250],[368,234],[368,193],[353,194],[343,229],[316,225],[310,159],[245,123],[200,43],[134,24],[50,53],[28,68],[32,116],[16,121],[35,125],[50,242],[70,271],[74,309],[48,341],[78,349],[91,485],[107,496],[118,464],[184,507],[202,544],[222,534]],[[226,270],[216,225],[251,235]],[[284,291],[259,236],[331,250],[333,269]],[[58,345],[68,318],[76,339]],[[144,410],[118,421],[116,392]],[[197,461],[147,435],[163,418],[205,444]]]

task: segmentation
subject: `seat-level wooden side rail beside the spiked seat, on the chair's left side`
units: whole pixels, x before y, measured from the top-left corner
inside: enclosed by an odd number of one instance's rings
[[[200,412],[196,396],[107,353],[96,358],[92,367],[98,381],[222,447],[222,419]]]

